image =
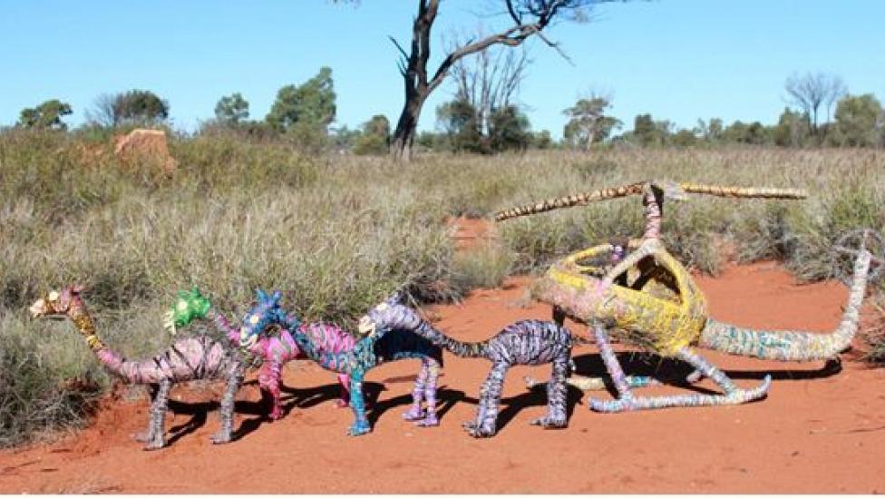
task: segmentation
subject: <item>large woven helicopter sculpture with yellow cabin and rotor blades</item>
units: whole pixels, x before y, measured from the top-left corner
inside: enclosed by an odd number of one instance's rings
[[[593,328],[600,355],[618,390],[615,401],[590,400],[589,406],[594,410],[618,412],[666,406],[734,405],[751,401],[766,394],[771,376],[765,376],[760,386],[739,389],[725,373],[698,356],[690,346],[696,344],[733,355],[809,361],[838,355],[848,347],[857,331],[859,308],[871,259],[870,253],[862,247],[857,251],[854,262],[847,308],[841,324],[832,334],[758,331],[708,317],[700,288],[659,239],[663,200],[684,200],[687,192],[735,198],[805,197],[800,190],[734,189],[647,181],[547,200],[534,206],[501,211],[496,216],[496,220],[507,220],[534,212],[586,204],[592,200],[642,195],[646,211],[645,233],[642,239],[629,241],[629,247],[634,250],[627,257],[600,275],[597,266],[582,263],[608,255],[618,248],[603,244],[585,249],[554,263],[532,288],[536,298],[554,306],[554,318],[558,322],[569,316]],[[686,361],[695,367],[691,380],[700,376],[710,377],[725,394],[635,397],[608,342],[605,327],[627,343],[660,356],[674,356]]]

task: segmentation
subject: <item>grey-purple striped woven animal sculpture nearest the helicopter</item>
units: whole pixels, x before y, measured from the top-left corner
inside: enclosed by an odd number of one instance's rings
[[[553,322],[523,320],[504,327],[497,335],[482,342],[464,343],[444,335],[413,308],[382,303],[361,318],[359,328],[360,333],[370,337],[385,330],[409,330],[453,355],[491,361],[491,371],[480,389],[476,419],[463,425],[473,437],[495,435],[504,376],[514,365],[552,364],[553,373],[547,385],[547,415],[532,420],[531,424],[547,428],[568,424],[566,376],[569,374],[572,337],[566,327]]]

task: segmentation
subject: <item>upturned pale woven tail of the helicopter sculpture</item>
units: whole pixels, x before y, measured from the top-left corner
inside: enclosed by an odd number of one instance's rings
[[[754,330],[735,327],[709,318],[698,345],[730,355],[781,361],[832,358],[851,345],[851,339],[857,332],[869,271],[870,253],[863,250],[854,261],[854,276],[849,290],[848,305],[842,314],[839,327],[836,327],[831,334],[792,330]]]

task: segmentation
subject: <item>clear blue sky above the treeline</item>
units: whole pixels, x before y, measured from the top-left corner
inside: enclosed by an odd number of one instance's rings
[[[493,0],[444,0],[443,34],[491,30]],[[403,104],[396,52],[408,42],[416,2],[0,0],[0,124],[50,98],[73,105],[78,124],[100,93],[132,88],[170,103],[173,126],[192,130],[225,94],[240,92],[263,118],[279,87],[333,69],[337,124],[350,127]],[[614,96],[612,112],[632,126],[651,112],[680,127],[698,118],[775,122],[793,72],[836,73],[851,93],[885,97],[885,1],[656,0],[602,5],[589,24],[549,30],[574,64],[543,44],[520,93],[535,130],[561,135],[562,110],[590,90]],[[451,97],[443,86],[424,108]]]

